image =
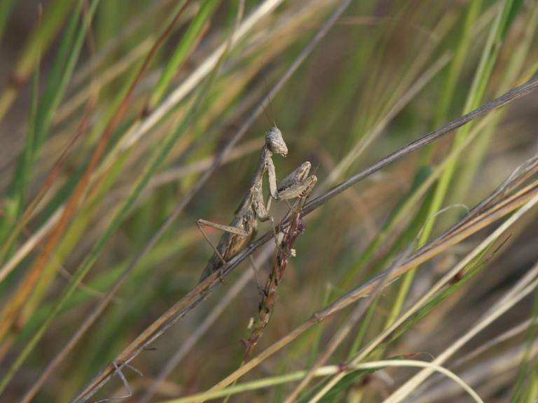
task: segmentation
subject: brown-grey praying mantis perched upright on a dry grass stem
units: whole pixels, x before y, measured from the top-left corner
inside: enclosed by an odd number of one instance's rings
[[[273,154],[279,154],[285,157],[288,148],[282,137],[282,132],[276,126],[271,127],[265,132],[265,144],[261,149],[258,167],[252,177],[249,191],[245,195],[241,204],[235,211],[235,218],[230,225],[221,225],[215,222],[197,220],[198,228],[205,239],[209,242],[214,250],[214,254],[207,263],[205,270],[200,277],[200,282],[226,267],[228,260],[237,255],[254,236],[258,227],[258,220],[261,222],[273,220],[268,213],[271,199],[287,200],[295,197],[307,195],[317,182],[315,175],[310,175],[310,162],[303,162],[295,171],[286,176],[278,185],[275,173],[275,164],[273,164]],[[267,203],[263,200],[263,176],[268,174],[269,197]],[[209,240],[209,237],[202,229],[202,225],[214,227],[224,231],[219,244],[215,247]],[[274,227],[274,225],[273,225]]]

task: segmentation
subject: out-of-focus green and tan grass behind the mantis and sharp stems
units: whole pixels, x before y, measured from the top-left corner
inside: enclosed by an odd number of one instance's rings
[[[265,116],[137,264],[110,306],[39,391],[29,393],[338,2],[245,1],[238,28],[241,4],[0,2],[0,401],[69,401],[193,288],[212,253],[195,222],[230,222],[273,120],[289,148],[286,158],[274,157],[277,177],[308,160],[319,178],[319,195],[537,71],[537,1],[352,1],[270,101]],[[259,15],[256,23],[230,42],[252,15]],[[221,56],[214,57],[218,49]],[[257,351],[389,267],[401,253],[441,234],[464,216],[465,206],[484,199],[532,158],[538,150],[537,100],[530,94],[467,125],[308,215]],[[462,145],[457,159],[421,188],[450,150]],[[284,202],[274,207],[277,221],[287,208]],[[368,360],[415,353],[432,360],[465,334],[537,261],[536,214],[534,208],[517,220],[494,248],[483,250],[483,261],[470,265],[476,270],[467,281],[450,285],[450,292],[438,295]],[[328,363],[345,362],[368,346],[493,227],[391,283]],[[261,233],[269,229],[261,225]],[[218,241],[219,232],[210,234]],[[262,283],[272,255],[258,259]],[[133,393],[128,401],[202,392],[237,369],[244,353],[240,340],[249,336],[247,325],[259,300],[256,283],[244,274],[250,271],[250,264],[242,264],[153,343],[155,350],[131,362],[144,377],[123,369]],[[240,278],[241,287],[234,288]],[[530,292],[448,362],[483,400],[537,400],[536,306],[537,295]],[[172,355],[219,307],[223,311],[207,331],[157,383]],[[308,369],[349,315],[346,309],[324,320],[242,381]],[[513,329],[518,331],[457,363]],[[354,372],[325,398],[380,402],[415,371]],[[312,397],[316,383],[303,390],[303,400]],[[233,399],[280,402],[296,385]],[[116,376],[97,398],[125,393]],[[409,399],[469,401],[462,388],[438,376]]]

